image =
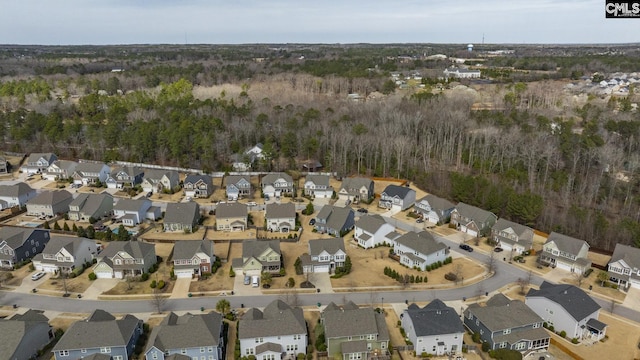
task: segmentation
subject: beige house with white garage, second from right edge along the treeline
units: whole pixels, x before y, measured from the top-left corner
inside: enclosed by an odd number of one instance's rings
[[[538,261],[562,270],[583,274],[591,267],[589,244],[584,240],[552,232],[542,246]]]

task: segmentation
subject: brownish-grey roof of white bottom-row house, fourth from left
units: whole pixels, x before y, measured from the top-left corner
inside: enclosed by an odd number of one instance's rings
[[[302,309],[292,308],[282,300],[274,300],[262,311],[262,318],[255,309],[251,317],[240,319],[240,338],[251,339],[266,336],[283,336],[307,333],[307,323]]]

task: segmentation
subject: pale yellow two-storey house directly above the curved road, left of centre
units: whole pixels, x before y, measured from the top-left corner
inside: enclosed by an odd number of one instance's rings
[[[233,259],[232,266],[236,272],[245,275],[279,273],[282,266],[280,240],[244,240],[242,258]]]

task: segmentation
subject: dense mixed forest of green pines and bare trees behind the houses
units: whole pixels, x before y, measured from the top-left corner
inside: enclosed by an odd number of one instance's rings
[[[477,56],[460,48],[4,46],[0,150],[230,171],[234,154],[262,143],[257,170],[313,159],[593,247],[640,246],[638,97],[564,86],[640,71],[637,46],[518,47],[471,59],[481,81],[438,79],[451,61],[430,55]],[[422,78],[396,86],[391,72]]]

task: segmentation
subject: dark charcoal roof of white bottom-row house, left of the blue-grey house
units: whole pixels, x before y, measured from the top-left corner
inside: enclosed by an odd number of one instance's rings
[[[404,311],[409,316],[416,336],[463,333],[464,326],[456,311],[441,300],[431,301],[423,308],[409,307]]]

